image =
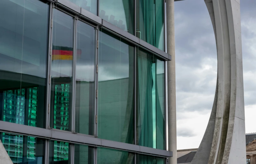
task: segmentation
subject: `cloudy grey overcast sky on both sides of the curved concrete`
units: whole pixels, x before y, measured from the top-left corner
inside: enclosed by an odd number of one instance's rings
[[[256,1],[241,0],[245,132],[256,132]],[[204,0],[175,2],[177,149],[198,148],[216,89],[217,50]]]

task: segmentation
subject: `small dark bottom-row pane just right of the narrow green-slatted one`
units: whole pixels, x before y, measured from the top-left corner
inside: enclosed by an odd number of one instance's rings
[[[74,164],[93,164],[93,147],[75,144]]]

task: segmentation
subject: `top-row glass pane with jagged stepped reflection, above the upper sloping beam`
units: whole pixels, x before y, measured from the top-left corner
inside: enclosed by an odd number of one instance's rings
[[[133,0],[99,0],[99,16],[134,35]]]

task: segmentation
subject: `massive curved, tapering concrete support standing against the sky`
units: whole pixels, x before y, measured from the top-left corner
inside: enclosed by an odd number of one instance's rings
[[[245,164],[240,0],[205,0],[216,38],[218,78],[206,132],[191,164]]]

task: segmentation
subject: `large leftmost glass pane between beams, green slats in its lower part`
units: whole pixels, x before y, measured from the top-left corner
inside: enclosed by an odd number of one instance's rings
[[[38,0],[0,1],[2,121],[45,127],[48,12]]]

